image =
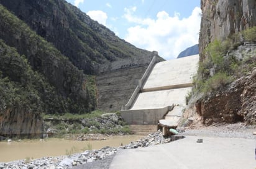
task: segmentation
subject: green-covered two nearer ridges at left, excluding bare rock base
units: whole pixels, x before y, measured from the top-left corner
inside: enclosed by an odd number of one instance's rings
[[[1,5],[0,20],[1,86],[9,85],[1,98],[11,94],[2,99],[4,102],[43,113],[81,114],[94,110],[94,77],[85,76]]]

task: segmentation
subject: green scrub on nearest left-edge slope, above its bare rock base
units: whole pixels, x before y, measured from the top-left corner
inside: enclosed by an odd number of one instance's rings
[[[20,56],[0,40],[0,110],[24,108],[34,113],[42,112],[38,89],[49,90],[42,79],[40,74],[32,71],[25,56]]]

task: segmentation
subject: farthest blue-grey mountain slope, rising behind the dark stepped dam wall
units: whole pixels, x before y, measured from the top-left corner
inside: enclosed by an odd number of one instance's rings
[[[113,61],[150,54],[116,37],[64,0],[0,0],[0,3],[86,74],[109,71]]]

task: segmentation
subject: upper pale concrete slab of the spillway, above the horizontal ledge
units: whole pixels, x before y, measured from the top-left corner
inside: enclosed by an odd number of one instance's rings
[[[198,61],[199,55],[196,54],[157,63],[145,83],[143,91],[191,86],[193,75],[198,69]]]

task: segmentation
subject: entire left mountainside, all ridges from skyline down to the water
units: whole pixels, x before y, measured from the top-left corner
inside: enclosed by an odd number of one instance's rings
[[[39,136],[44,114],[90,113],[112,96],[98,90],[95,75],[127,74],[130,91],[153,57],[63,0],[0,3],[0,135]],[[141,71],[126,71],[133,68]],[[130,93],[112,84],[121,101],[112,110],[120,110]]]

